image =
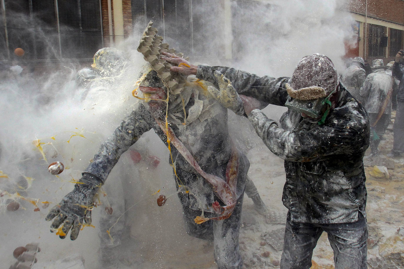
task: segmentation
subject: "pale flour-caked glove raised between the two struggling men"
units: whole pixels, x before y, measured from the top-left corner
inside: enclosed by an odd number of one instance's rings
[[[233,85],[231,85],[229,79],[218,71],[215,71],[213,75],[215,76],[216,82],[219,85],[219,90],[213,86],[208,86],[208,92],[225,108],[229,108],[237,115],[243,115],[243,102],[236,92],[236,89],[234,89]]]

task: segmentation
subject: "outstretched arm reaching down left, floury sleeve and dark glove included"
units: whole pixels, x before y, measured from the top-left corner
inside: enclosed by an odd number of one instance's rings
[[[95,195],[104,184],[109,172],[118,162],[121,154],[151,129],[154,119],[150,113],[139,105],[139,108],[124,119],[112,136],[105,141],[94,161],[83,172],[82,178],[74,185],[62,200],[54,206],[46,216],[47,221],[53,220],[50,231],[57,230],[60,238],[65,238],[69,230],[70,239],[75,240],[84,225],[91,224],[91,211],[94,207]]]

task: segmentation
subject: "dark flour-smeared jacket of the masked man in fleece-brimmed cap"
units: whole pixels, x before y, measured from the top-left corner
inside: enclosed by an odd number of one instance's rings
[[[213,81],[213,71],[227,77],[240,93],[267,104],[284,106],[288,77],[258,77],[228,67],[198,66],[197,77]],[[339,102],[323,125],[292,110],[278,125],[259,109],[248,119],[265,145],[285,160],[282,201],[293,221],[346,223],[366,217],[363,156],[369,146],[366,111],[340,83]],[[270,165],[270,164],[263,164]]]

